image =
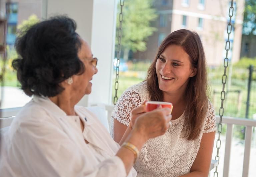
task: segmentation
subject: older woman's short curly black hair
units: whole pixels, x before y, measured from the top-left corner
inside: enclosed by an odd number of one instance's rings
[[[57,16],[33,25],[16,39],[19,57],[12,66],[27,95],[56,96],[64,90],[61,82],[84,72],[77,55],[81,41],[75,30],[74,20]]]

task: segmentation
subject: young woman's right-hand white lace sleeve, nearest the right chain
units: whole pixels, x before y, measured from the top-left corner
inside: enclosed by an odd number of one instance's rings
[[[208,111],[203,128],[203,133],[210,133],[216,131],[216,117],[212,103],[209,101]]]

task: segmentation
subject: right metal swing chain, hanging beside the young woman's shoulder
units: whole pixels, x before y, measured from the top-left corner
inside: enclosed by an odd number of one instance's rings
[[[227,26],[227,33],[228,33],[228,40],[226,41],[226,46],[225,46],[225,50],[226,50],[226,58],[224,59],[224,74],[222,76],[222,91],[221,91],[221,95],[220,95],[220,99],[221,99],[221,107],[220,107],[220,112],[219,112],[219,115],[220,115],[220,122],[218,124],[218,133],[219,133],[219,136],[218,136],[218,139],[216,141],[216,148],[217,148],[217,155],[215,156],[215,160],[220,160],[220,157],[219,157],[219,149],[220,149],[220,145],[221,145],[221,140],[220,140],[220,134],[222,132],[222,117],[223,117],[223,113],[224,113],[224,108],[223,108],[223,103],[224,103],[224,100],[225,100],[225,96],[226,96],[226,92],[225,92],[225,84],[227,82],[227,67],[228,67],[228,51],[230,49],[230,41],[229,41],[229,35],[232,31],[232,24],[231,24],[231,18],[234,14],[234,8],[233,8],[233,0],[231,0],[231,6],[229,8],[229,23],[228,23],[228,26]],[[214,177],[216,175],[216,177],[218,177],[218,166],[216,166],[215,168],[215,172],[214,172]]]

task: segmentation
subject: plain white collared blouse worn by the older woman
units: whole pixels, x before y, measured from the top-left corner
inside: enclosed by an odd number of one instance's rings
[[[75,112],[67,116],[50,99],[34,96],[2,137],[0,176],[126,176],[115,156],[120,146],[106,128],[86,108],[76,106]],[[136,174],[132,168],[128,176]]]

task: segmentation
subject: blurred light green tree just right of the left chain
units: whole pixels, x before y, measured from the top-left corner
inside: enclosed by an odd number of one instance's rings
[[[133,52],[145,51],[148,37],[157,30],[155,27],[151,27],[151,22],[158,16],[156,10],[152,8],[152,3],[153,0],[125,0],[124,2],[122,50],[126,60],[130,50]],[[118,28],[119,15],[117,15],[117,35]],[[116,44],[118,44],[118,36]]]

